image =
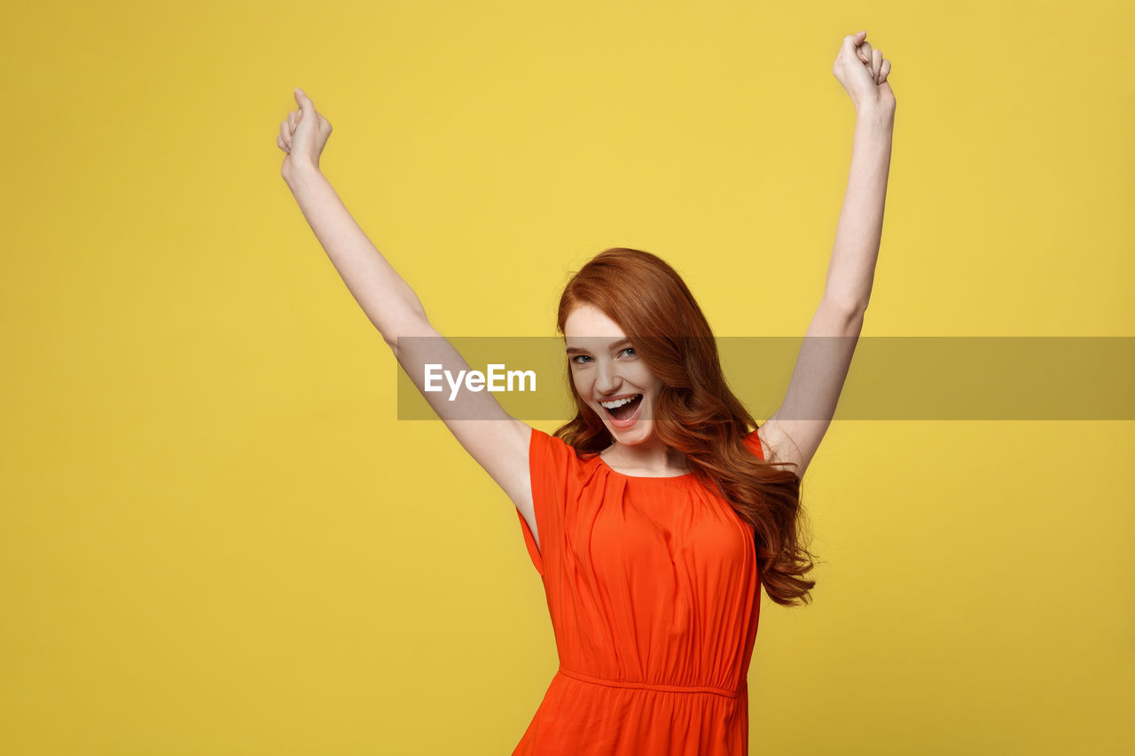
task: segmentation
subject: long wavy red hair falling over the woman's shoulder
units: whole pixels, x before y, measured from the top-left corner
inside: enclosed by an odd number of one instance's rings
[[[800,536],[800,478],[762,461],[745,445],[753,415],[730,390],[717,343],[690,289],[661,258],[624,247],[600,252],[577,272],[560,299],[557,327],[590,304],[619,324],[663,388],[654,417],[658,439],[686,455],[690,472],[722,495],[753,524],[757,569],[765,593],[777,604],[812,600],[815,563]],[[568,366],[575,417],[555,432],[582,456],[614,443],[603,420],[575,390]],[[791,464],[791,463],[781,463]]]

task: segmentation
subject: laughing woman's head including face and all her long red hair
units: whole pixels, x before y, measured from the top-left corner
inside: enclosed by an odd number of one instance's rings
[[[568,283],[557,325],[577,411],[556,435],[580,455],[656,436],[753,526],[770,598],[809,600],[800,478],[746,445],[757,423],[725,383],[709,324],[674,269],[640,250],[600,252]]]

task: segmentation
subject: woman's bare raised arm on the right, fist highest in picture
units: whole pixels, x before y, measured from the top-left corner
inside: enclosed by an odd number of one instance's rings
[[[784,402],[758,432],[774,461],[794,463],[791,469],[800,477],[835,414],[863,329],[883,233],[896,101],[886,82],[891,64],[871,49],[866,35],[844,37],[832,69],[855,104],[856,126],[824,296],[805,334]]]

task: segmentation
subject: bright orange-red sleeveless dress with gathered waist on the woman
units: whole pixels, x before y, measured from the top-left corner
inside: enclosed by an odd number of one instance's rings
[[[748,754],[753,526],[690,474],[625,476],[535,428],[529,470],[543,553],[516,516],[560,669],[513,756]]]

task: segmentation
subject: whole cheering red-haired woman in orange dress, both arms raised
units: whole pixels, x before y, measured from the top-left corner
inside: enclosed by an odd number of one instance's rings
[[[809,600],[800,478],[831,422],[871,294],[890,167],[890,62],[843,39],[833,73],[857,119],[823,299],[781,408],[755,430],[681,278],[607,250],[560,302],[577,414],[555,435],[488,392],[423,396],[516,505],[560,652],[515,754],[746,754],[759,590]],[[312,230],[398,362],[468,370],[320,174],[331,126],[296,90],[281,169]],[[427,338],[415,338],[427,337]]]

